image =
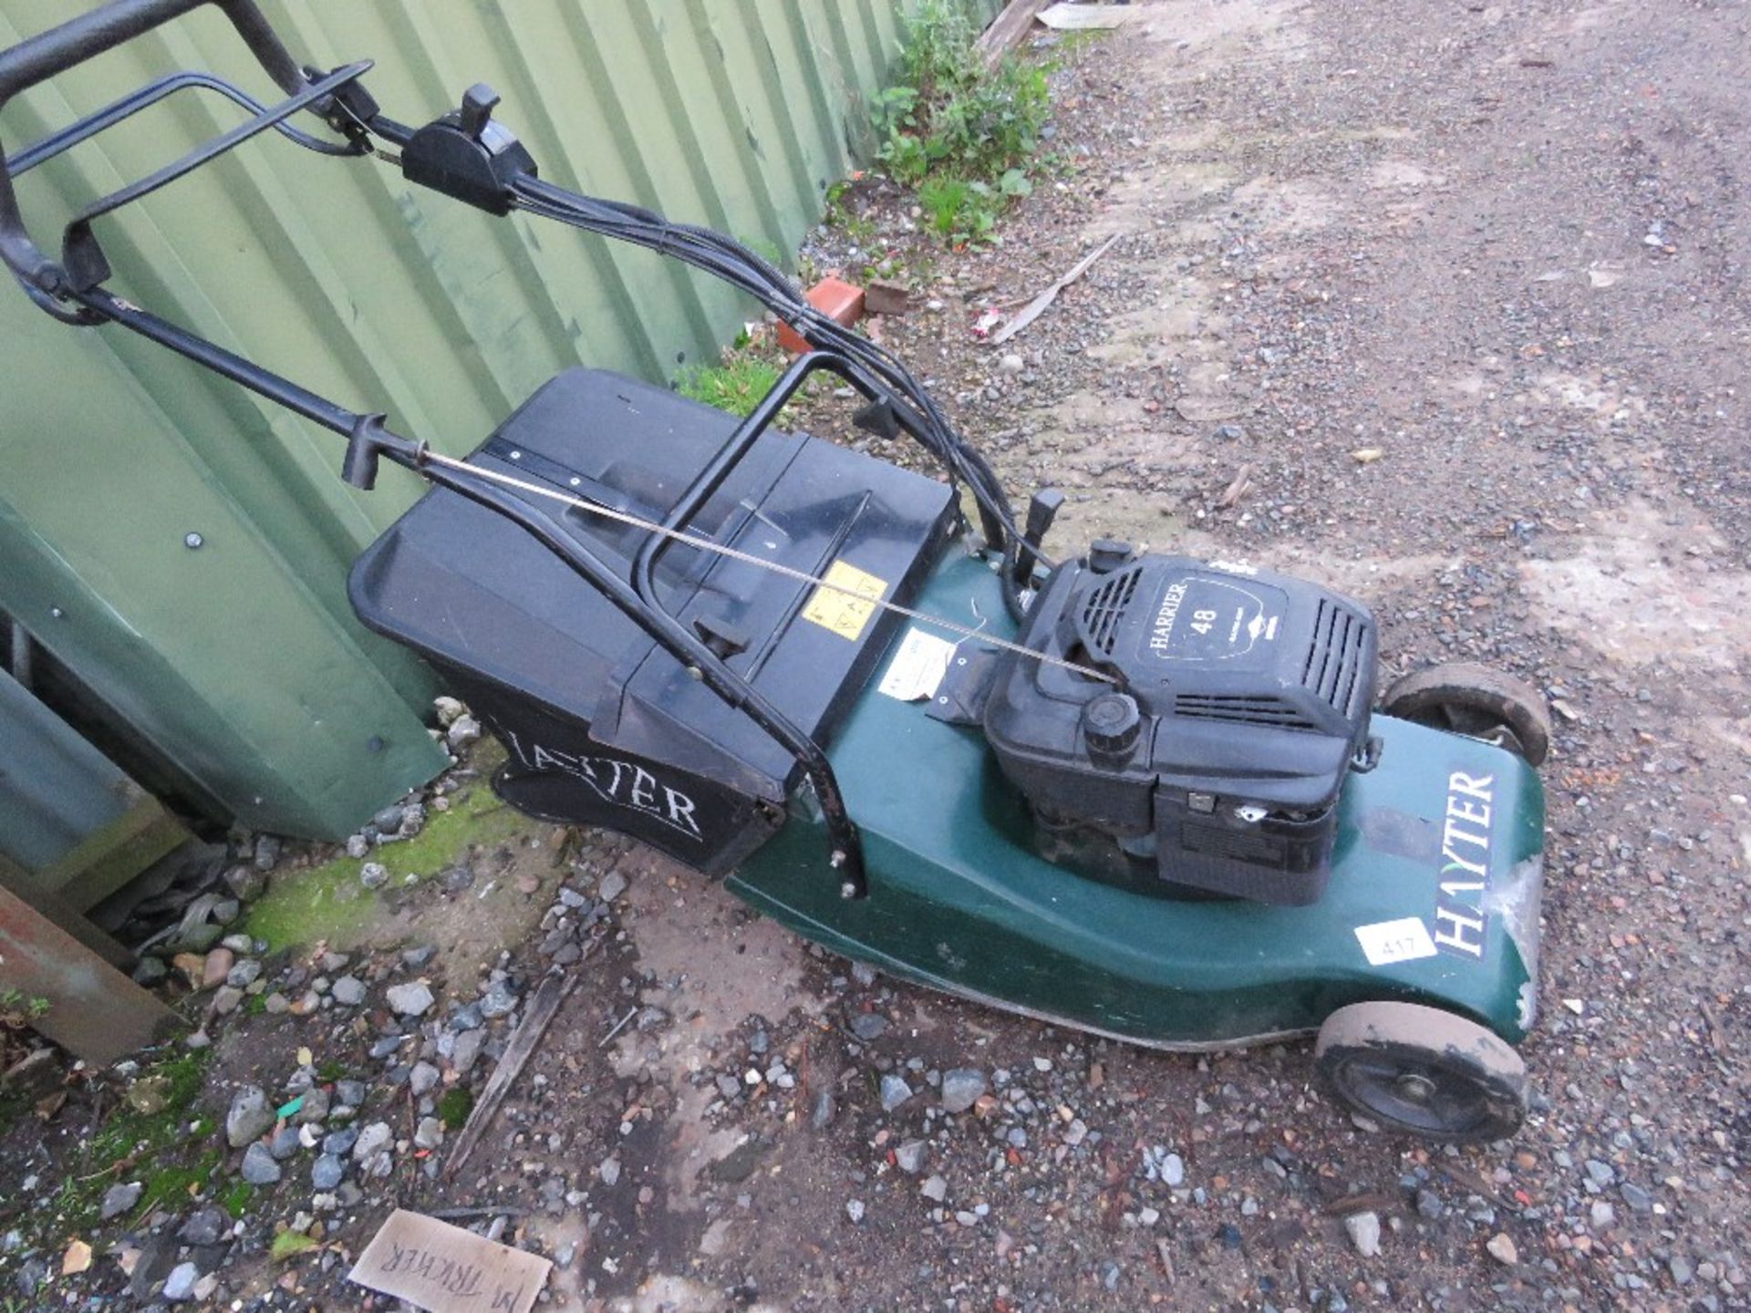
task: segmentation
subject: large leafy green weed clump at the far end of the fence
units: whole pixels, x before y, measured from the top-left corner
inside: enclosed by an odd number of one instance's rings
[[[883,168],[918,187],[926,226],[951,245],[991,242],[1009,201],[1033,191],[1051,112],[1047,67],[1005,56],[988,70],[977,35],[963,4],[923,0],[907,23],[902,81],[876,102]]]

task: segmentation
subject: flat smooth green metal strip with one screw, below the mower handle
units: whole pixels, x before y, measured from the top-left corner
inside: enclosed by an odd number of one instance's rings
[[[329,560],[306,572],[277,548],[112,334],[12,322],[7,387],[58,422],[0,427],[5,607],[245,825],[345,833],[361,800],[429,777],[441,756],[404,700],[417,667],[334,620]],[[70,357],[79,389],[46,387]]]

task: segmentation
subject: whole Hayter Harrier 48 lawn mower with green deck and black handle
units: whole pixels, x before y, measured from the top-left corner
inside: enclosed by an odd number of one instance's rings
[[[1446,665],[1376,699],[1376,625],[1348,597],[1110,539],[1052,558],[1061,494],[1017,516],[888,350],[720,233],[543,180],[485,86],[410,128],[366,91],[369,61],[299,67],[250,0],[116,0],[0,54],[0,105],[200,4],[285,98],[184,72],[11,152],[0,256],[54,319],[138,333],[336,432],[354,488],[383,460],[431,483],[348,592],[503,741],[506,802],[632,835],[904,980],[1161,1049],[1317,1033],[1376,1124],[1515,1131],[1534,690]],[[81,208],[46,256],[14,180],[184,91],[238,124]],[[266,131],[685,261],[807,350],[741,420],[578,368],[440,453],[105,289],[98,221]],[[779,431],[821,373],[872,445],[919,443],[940,478]]]

